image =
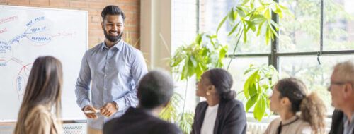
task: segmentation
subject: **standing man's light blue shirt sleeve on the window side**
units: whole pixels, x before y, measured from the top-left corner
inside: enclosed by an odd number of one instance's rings
[[[139,83],[139,80],[147,74],[147,64],[145,63],[144,56],[140,51],[135,51],[135,53],[130,56],[132,78],[134,79],[135,85]],[[137,86],[133,87],[130,92],[127,92],[124,97],[115,100],[115,103],[118,104],[118,111],[123,111],[127,109],[129,106],[137,106]]]

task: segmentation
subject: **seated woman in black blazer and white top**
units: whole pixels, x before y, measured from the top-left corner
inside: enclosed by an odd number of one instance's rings
[[[246,113],[243,104],[234,99],[232,83],[232,75],[221,68],[202,74],[196,94],[207,100],[195,109],[192,134],[246,133]]]

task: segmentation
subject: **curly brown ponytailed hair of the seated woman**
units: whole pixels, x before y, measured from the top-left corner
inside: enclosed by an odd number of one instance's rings
[[[284,78],[275,85],[280,98],[287,97],[291,102],[291,111],[301,111],[301,118],[307,121],[314,133],[324,133],[326,106],[316,93],[307,94],[307,87],[297,78]]]

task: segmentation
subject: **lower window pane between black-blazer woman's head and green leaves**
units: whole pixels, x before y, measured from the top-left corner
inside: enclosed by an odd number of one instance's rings
[[[224,68],[227,68],[227,64],[230,59],[224,60]],[[246,71],[249,66],[253,64],[255,66],[261,66],[263,64],[268,64],[268,57],[236,57],[232,59],[232,63],[229,67],[229,73],[232,74],[232,78],[234,78],[234,85],[232,86],[232,90],[235,90],[237,93],[244,90],[244,82],[246,78],[244,77],[244,71]],[[244,93],[239,93],[236,97],[241,100],[244,105],[246,105],[246,98],[244,97]]]

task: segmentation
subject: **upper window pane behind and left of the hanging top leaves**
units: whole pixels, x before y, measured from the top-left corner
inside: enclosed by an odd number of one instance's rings
[[[222,18],[227,15],[236,4],[240,1],[236,0],[200,0],[200,31],[210,32],[214,34],[217,30],[217,26],[221,22]],[[236,46],[238,38],[227,36],[229,31],[232,30],[232,26],[229,23],[224,23],[218,33],[218,39],[224,44],[229,44],[229,54],[232,54]],[[264,31],[264,30],[263,30]],[[237,31],[235,31],[236,33]],[[264,33],[260,37],[256,37],[256,33],[249,32],[247,38],[250,42],[242,43],[241,41],[236,48],[236,54],[259,54],[270,53],[270,45],[265,45]]]

